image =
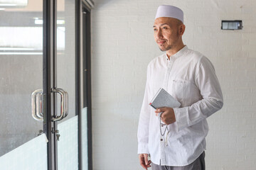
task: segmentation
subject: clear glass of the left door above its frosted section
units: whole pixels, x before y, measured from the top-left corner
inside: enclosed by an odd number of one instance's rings
[[[42,19],[42,0],[0,0],[0,157],[43,130],[31,115],[31,94],[43,89]]]

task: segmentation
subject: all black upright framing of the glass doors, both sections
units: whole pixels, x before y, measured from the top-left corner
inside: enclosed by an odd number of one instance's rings
[[[44,121],[43,121],[43,130],[48,137],[48,169],[58,169],[57,162],[57,138],[53,129],[55,129],[56,123],[52,122],[52,116],[55,113],[55,95],[51,92],[52,88],[56,86],[56,12],[57,12],[57,0],[43,0],[43,106],[44,106]],[[89,2],[89,3],[88,3]],[[88,15],[87,18],[87,31],[83,35],[86,35],[86,40],[84,40],[85,36],[82,37],[82,41],[86,41],[87,50],[86,56],[82,55],[82,57],[86,57],[86,69],[90,70],[90,10],[93,6],[93,2],[90,0],[75,0],[75,78],[76,78],[76,86],[75,86],[75,101],[76,101],[76,115],[78,115],[78,164],[79,169],[82,169],[82,122],[81,122],[81,103],[80,98],[81,94],[80,87],[86,86],[86,98],[87,98],[87,132],[88,132],[88,169],[92,169],[92,116],[91,116],[91,78],[90,72],[86,73],[86,84],[80,81],[80,57],[81,57],[81,32],[83,31],[81,28],[81,17],[82,10],[86,8]],[[85,67],[85,66],[83,66]],[[85,70],[85,68],[82,68]],[[84,76],[83,76],[84,77]],[[84,96],[83,96],[84,97]]]

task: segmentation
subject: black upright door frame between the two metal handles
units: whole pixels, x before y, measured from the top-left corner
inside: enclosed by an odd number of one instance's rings
[[[54,19],[53,12],[55,8],[55,1],[43,1],[43,95],[44,99],[44,121],[43,130],[48,138],[47,155],[48,155],[48,169],[55,169],[55,149],[54,137],[52,135],[53,122],[51,121],[51,113],[54,113],[53,94],[51,88],[54,86]]]

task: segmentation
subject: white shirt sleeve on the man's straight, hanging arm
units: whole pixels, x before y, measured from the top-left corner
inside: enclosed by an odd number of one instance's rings
[[[144,93],[144,99],[142,103],[142,109],[139,115],[138,126],[138,154],[149,154],[148,142],[149,142],[149,120],[150,120],[150,108],[149,108],[149,67],[147,68],[146,76],[146,88]]]

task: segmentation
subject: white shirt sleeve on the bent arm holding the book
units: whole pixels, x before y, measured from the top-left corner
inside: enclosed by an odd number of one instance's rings
[[[195,125],[223,107],[223,94],[213,64],[202,57],[196,65],[195,83],[202,99],[191,106],[174,108],[178,131]]]

